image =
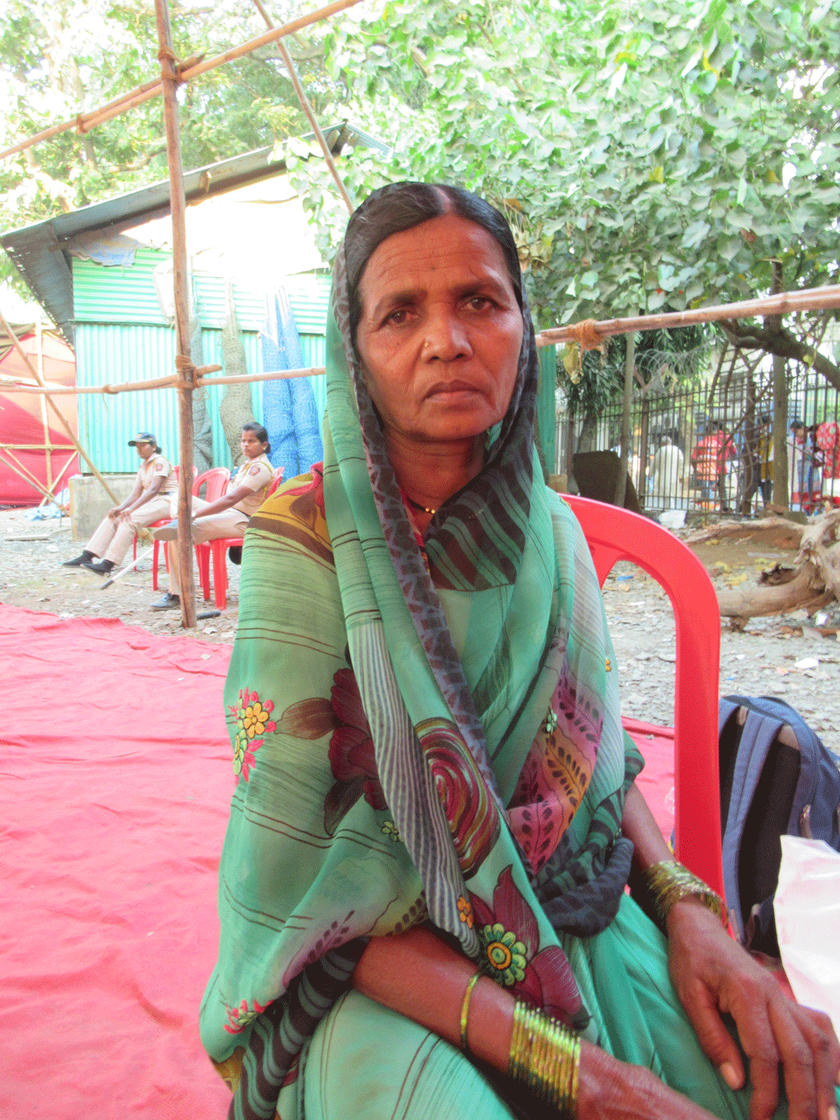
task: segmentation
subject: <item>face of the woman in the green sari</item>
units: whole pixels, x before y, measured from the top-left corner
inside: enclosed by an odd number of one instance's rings
[[[456,215],[388,237],[360,282],[356,346],[385,432],[461,440],[507,411],[522,312],[496,240]]]

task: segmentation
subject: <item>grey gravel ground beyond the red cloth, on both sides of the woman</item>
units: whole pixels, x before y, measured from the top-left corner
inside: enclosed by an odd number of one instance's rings
[[[157,634],[183,633],[177,610],[153,612],[166,589],[151,587],[151,560],[106,589],[84,569],[62,568],[80,544],[69,523],[29,521],[24,510],[0,511],[0,601],[59,617],[119,617]],[[792,564],[793,553],[752,540],[709,543],[698,550],[717,585],[755,579],[776,562]],[[239,569],[228,564],[227,608],[198,620],[195,636],[230,643],[236,629]],[[659,585],[632,564],[617,564],[604,588],[613,642],[622,673],[625,715],[654,724],[673,722],[675,636],[671,605]],[[197,610],[213,608],[199,601]],[[721,625],[720,693],[776,696],[793,704],[827,746],[840,753],[840,644],[838,605],[828,612],[834,633],[823,636],[805,612],[753,619],[745,632]]]

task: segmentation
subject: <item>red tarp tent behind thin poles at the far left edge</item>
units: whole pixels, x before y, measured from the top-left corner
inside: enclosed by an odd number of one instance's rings
[[[39,344],[34,330],[18,334],[18,340],[47,384],[75,385],[76,361],[69,346],[46,333],[41,333]],[[20,377],[34,383],[26,363],[6,335],[0,338],[0,376]],[[76,398],[57,395],[55,401],[75,431]],[[59,447],[59,450],[49,452],[49,464],[45,442]],[[68,459],[76,461],[62,474]],[[60,476],[56,487],[60,491],[77,468],[73,444],[45,399],[37,393],[16,393],[0,384],[0,505],[38,505],[44,494],[27,475],[35,475],[45,487]]]

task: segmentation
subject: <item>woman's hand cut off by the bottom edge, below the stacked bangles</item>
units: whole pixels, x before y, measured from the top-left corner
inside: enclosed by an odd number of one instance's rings
[[[591,1043],[580,1044],[578,1120],[715,1120],[669,1089],[650,1070],[610,1057]]]

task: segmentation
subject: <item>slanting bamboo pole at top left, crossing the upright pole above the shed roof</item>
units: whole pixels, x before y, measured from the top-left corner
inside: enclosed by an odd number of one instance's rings
[[[189,59],[187,63],[176,64],[175,56],[172,56],[170,76],[176,83],[188,82],[190,78],[198,77],[199,74],[206,74],[207,71],[215,69],[217,66],[223,66],[225,63],[243,58],[245,55],[251,54],[260,47],[264,47],[270,43],[276,43],[277,40],[282,39],[286,35],[292,35],[295,31],[300,31],[310,24],[317,24],[321,19],[328,19],[330,16],[335,16],[337,12],[344,11],[346,8],[353,8],[357,3],[361,3],[361,0],[336,0],[335,3],[327,4],[325,8],[318,8],[316,11],[309,12],[307,16],[299,16],[297,19],[293,19],[288,24],[282,24],[280,27],[276,27],[271,31],[259,35],[254,39],[249,39],[239,47],[232,47],[230,50],[225,50],[224,54],[215,55],[213,58],[199,58],[196,62]],[[129,109],[136,109],[143,102],[151,101],[152,97],[160,96],[162,92],[162,78],[156,78],[151,82],[147,82],[143,85],[137,86],[137,88],[122,94],[120,97],[108,102],[106,105],[102,105],[100,109],[92,110],[90,113],[78,113],[69,121],[63,121],[60,124],[54,124],[52,128],[44,129],[41,132],[38,132],[26,140],[18,141],[18,143],[12,144],[10,148],[6,148],[3,151],[0,151],[0,159],[6,159],[7,156],[15,156],[20,151],[25,151],[27,148],[34,147],[36,143],[49,140],[53,137],[58,136],[60,132],[67,132],[71,129],[77,129],[81,133],[87,132],[95,124],[102,124],[104,121],[111,120],[112,116],[119,116]]]

